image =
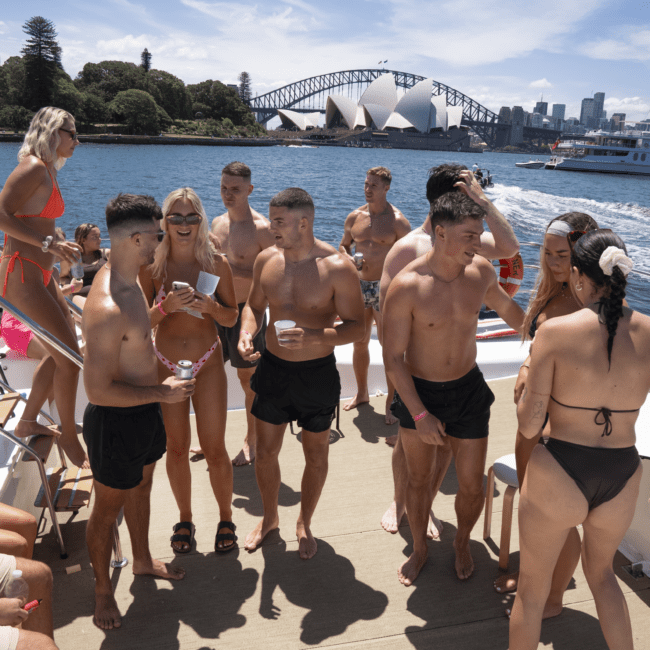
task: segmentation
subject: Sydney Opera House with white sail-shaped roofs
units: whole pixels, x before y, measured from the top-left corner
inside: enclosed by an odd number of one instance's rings
[[[433,80],[424,79],[398,98],[395,78],[386,73],[375,79],[358,103],[342,95],[327,98],[326,128],[344,127],[426,134],[460,127],[462,106],[447,106],[444,95],[432,97]],[[318,126],[319,113],[279,109],[284,128],[306,131]]]

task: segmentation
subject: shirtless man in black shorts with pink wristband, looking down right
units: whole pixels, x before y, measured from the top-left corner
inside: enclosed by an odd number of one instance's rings
[[[427,559],[436,453],[449,444],[456,461],[456,574],[470,577],[469,538],[483,508],[483,472],[494,395],[476,365],[476,325],[483,303],[520,329],[524,313],[500,287],[494,268],[477,255],[485,210],[460,192],[431,208],[433,247],[392,281],[386,296],[384,363],[396,387],[394,414],[406,457],[406,509],[413,553],[399,570],[402,584]]]

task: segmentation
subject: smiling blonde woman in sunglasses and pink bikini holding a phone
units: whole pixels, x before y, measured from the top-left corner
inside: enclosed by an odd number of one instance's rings
[[[221,343],[215,320],[232,327],[237,320],[237,301],[230,265],[208,238],[208,219],[196,192],[189,187],[174,190],[163,204],[162,228],[167,232],[151,266],[140,273],[145,296],[151,301],[151,327],[156,329],[155,351],[163,381],[176,363],[193,363],[196,388],[192,396],[196,429],[208,463],[210,483],[219,504],[219,525],[214,549],[218,553],[236,547],[232,523],[232,463],[226,451],[227,385]],[[191,288],[173,290],[172,282],[196,287],[199,272],[219,276],[217,301]],[[189,307],[203,314],[197,318]],[[173,528],[172,548],[188,553],[194,539],[190,476],[190,403],[162,404],[167,432],[167,474],[180,510]]]

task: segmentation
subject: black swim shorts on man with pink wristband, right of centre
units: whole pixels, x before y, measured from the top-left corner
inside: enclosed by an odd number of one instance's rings
[[[424,407],[445,424],[454,438],[485,438],[489,432],[490,406],[494,393],[478,366],[453,381],[427,381],[413,377],[415,390]],[[404,429],[415,429],[415,422],[397,391],[390,410]]]

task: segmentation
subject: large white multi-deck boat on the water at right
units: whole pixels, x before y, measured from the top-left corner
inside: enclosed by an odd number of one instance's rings
[[[650,176],[650,133],[593,131],[586,140],[560,142],[554,153],[547,168]]]

